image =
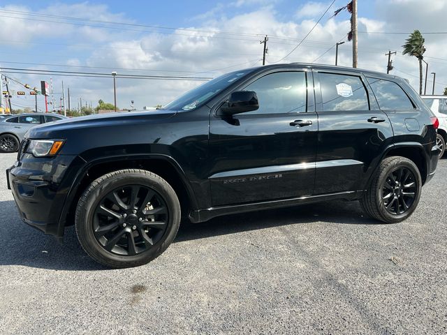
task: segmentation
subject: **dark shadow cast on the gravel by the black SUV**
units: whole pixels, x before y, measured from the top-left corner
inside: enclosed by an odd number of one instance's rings
[[[0,202],[0,266],[21,265],[65,271],[106,270],[82,250],[73,226],[64,244],[23,223],[13,201]],[[174,243],[249,230],[310,223],[370,225],[358,202],[332,201],[285,209],[221,216],[205,223],[182,223]]]

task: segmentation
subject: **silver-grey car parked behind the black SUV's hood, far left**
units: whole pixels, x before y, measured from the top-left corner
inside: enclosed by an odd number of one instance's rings
[[[0,152],[15,152],[29,128],[66,117],[59,114],[29,113],[0,118]]]

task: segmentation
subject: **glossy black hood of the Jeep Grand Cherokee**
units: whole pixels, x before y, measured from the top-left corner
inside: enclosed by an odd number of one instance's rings
[[[142,112],[112,112],[106,114],[93,114],[86,117],[73,117],[41,124],[31,128],[25,137],[45,139],[50,137],[63,137],[64,133],[71,133],[82,128],[84,131],[91,128],[108,128],[114,126],[131,126],[132,124],[158,122],[169,119],[177,114],[174,110],[156,110]]]

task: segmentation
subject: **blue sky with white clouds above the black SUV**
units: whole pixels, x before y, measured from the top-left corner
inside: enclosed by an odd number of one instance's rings
[[[335,43],[346,40],[349,13],[334,10],[348,0],[335,0],[302,42],[331,1],[1,1],[0,68],[57,70],[76,73],[153,75],[163,77],[217,77],[223,73],[262,64],[268,35],[267,64],[314,62],[334,64]],[[144,3],[144,4],[143,4]],[[447,87],[446,0],[358,0],[358,67],[386,71],[388,50],[392,73],[406,77],[418,89],[418,61],[402,55],[409,32],[425,37],[429,64],[427,93]],[[403,34],[395,34],[403,33]],[[431,33],[431,34],[430,34]],[[438,33],[438,34],[433,34]],[[442,34],[439,34],[442,33]],[[301,43],[302,42],[302,43]],[[301,43],[294,52],[284,58]],[[331,49],[332,48],[332,49]],[[352,65],[351,43],[339,47],[339,65]],[[113,103],[109,77],[6,73],[31,86],[50,82],[59,104],[61,82],[70,87],[71,106],[78,101]],[[425,74],[425,68],[424,68]],[[117,78],[117,105],[129,108],[165,105],[200,80],[149,80]],[[4,89],[4,88],[3,88]],[[23,87],[10,81],[10,91]],[[50,99],[52,97],[50,96]],[[14,96],[13,107],[33,107],[34,97]],[[66,103],[68,107],[68,102]],[[45,110],[43,96],[38,108]]]

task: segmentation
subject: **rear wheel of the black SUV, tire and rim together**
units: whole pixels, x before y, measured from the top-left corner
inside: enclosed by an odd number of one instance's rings
[[[376,220],[398,223],[413,214],[420,199],[422,179],[413,161],[385,158],[360,199],[364,211]]]

